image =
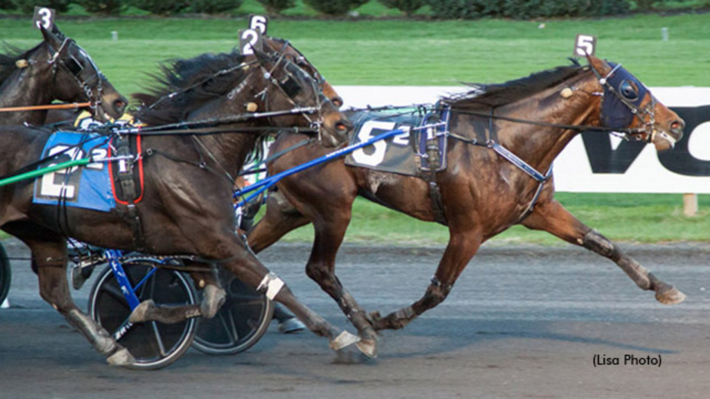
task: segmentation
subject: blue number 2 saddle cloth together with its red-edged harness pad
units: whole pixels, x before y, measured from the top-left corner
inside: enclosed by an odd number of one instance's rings
[[[140,136],[55,132],[45,143],[42,158],[56,156],[40,165],[40,168],[89,156],[96,162],[38,177],[35,180],[33,202],[101,212],[110,212],[116,203],[139,202],[143,197],[143,160],[136,156],[114,161],[106,159],[140,153]],[[135,158],[138,158],[137,162]],[[127,180],[130,180],[129,184],[126,184]]]

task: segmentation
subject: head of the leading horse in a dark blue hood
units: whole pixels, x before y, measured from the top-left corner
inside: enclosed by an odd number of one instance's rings
[[[633,140],[653,143],[657,151],[673,148],[685,126],[678,114],[653,97],[621,64],[593,56],[588,59],[601,85],[601,124]]]

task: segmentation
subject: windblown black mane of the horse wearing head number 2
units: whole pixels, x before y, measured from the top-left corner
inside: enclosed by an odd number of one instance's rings
[[[148,75],[154,81],[148,87],[149,92],[131,96],[141,103],[136,117],[153,125],[184,121],[187,114],[204,102],[224,96],[244,80],[244,68],[238,67],[243,61],[243,55],[232,51],[163,62],[160,74]],[[174,93],[175,97],[165,99]]]

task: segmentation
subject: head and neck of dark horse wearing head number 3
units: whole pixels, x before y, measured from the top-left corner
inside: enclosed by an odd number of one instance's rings
[[[0,54],[0,108],[39,106],[54,100],[90,102],[94,117],[123,114],[128,100],[116,91],[89,53],[57,26],[40,29],[44,40],[30,50]],[[45,123],[47,109],[0,112],[0,124]]]

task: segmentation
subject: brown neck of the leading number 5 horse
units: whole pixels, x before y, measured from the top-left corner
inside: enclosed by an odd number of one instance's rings
[[[495,114],[550,124],[598,126],[601,98],[588,94],[594,89],[576,90],[568,99],[559,94],[565,87],[583,88],[593,83],[565,82],[536,96],[496,109]],[[550,168],[557,155],[580,132],[503,120],[493,125],[502,146],[541,172]]]

